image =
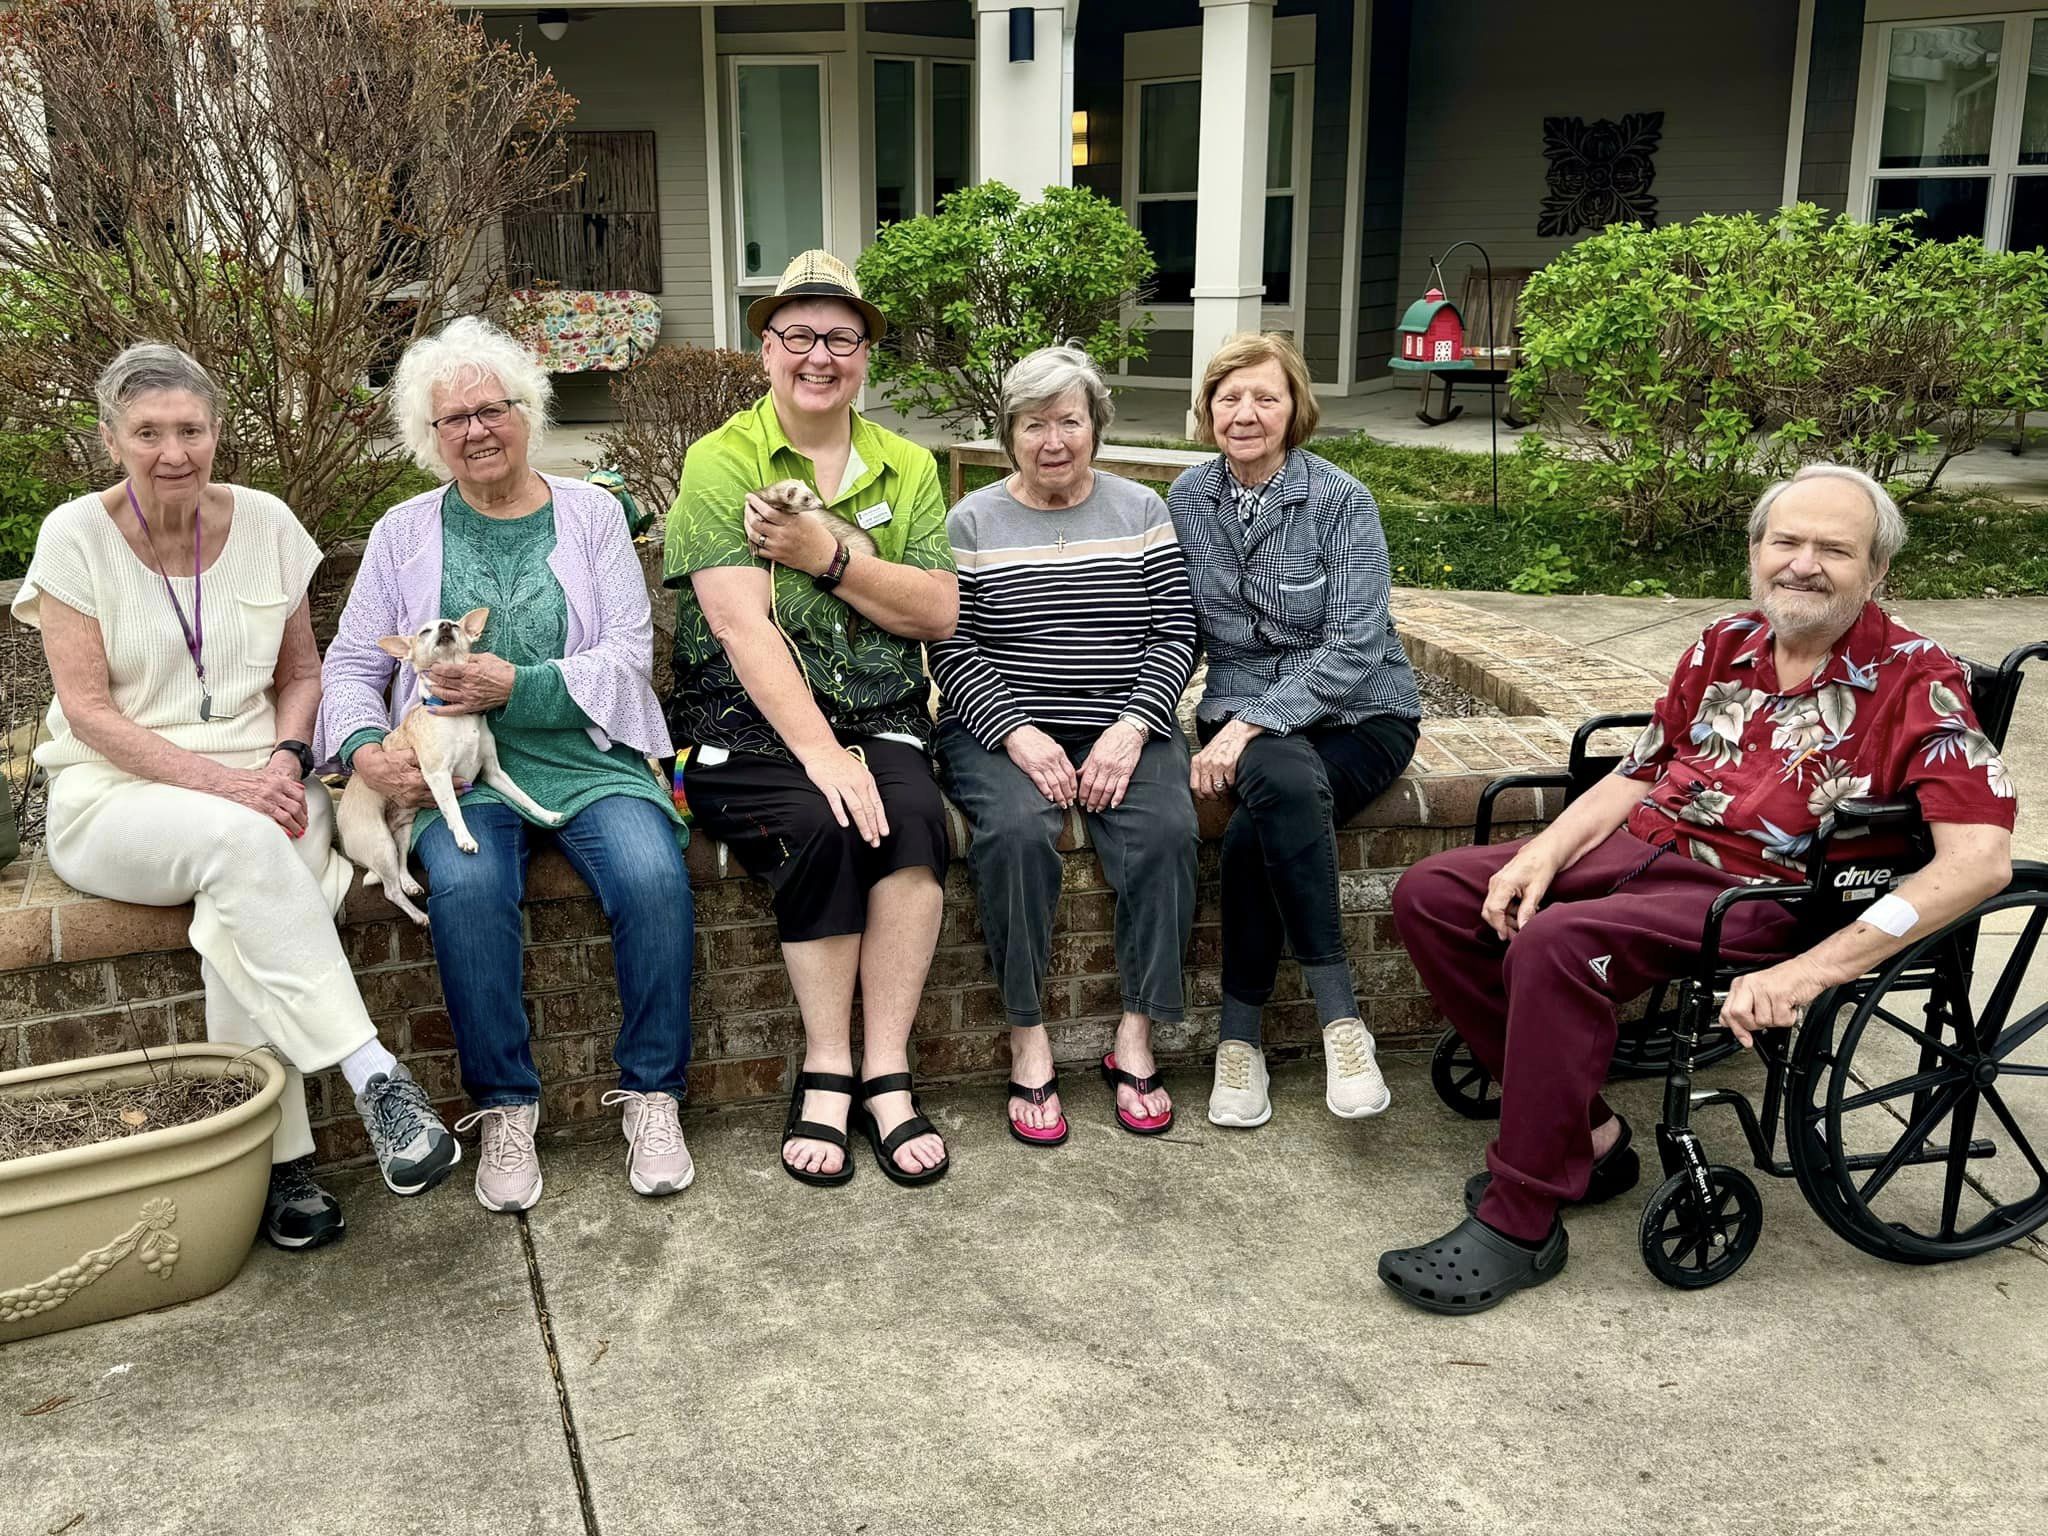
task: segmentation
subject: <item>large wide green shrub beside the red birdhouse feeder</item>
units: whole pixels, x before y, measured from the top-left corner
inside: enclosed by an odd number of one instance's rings
[[[1540,492],[1612,502],[1655,543],[1741,518],[1802,463],[1905,496],[2013,410],[2048,406],[2048,256],[1927,242],[1812,205],[1616,225],[1522,295],[1526,406],[1559,397],[1563,449],[1524,440]]]

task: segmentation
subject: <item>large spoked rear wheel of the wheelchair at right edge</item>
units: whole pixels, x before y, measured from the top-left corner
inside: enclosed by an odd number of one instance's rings
[[[2044,926],[2048,891],[2007,891],[1802,1028],[1788,1149],[1858,1247],[1935,1264],[2048,1223]]]

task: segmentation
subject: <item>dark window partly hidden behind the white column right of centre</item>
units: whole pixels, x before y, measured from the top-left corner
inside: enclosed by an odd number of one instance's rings
[[[1303,70],[1274,70],[1266,127],[1266,231],[1260,270],[1266,303],[1294,303],[1294,229],[1305,184],[1294,133]],[[1202,82],[1147,80],[1137,86],[1137,225],[1159,264],[1155,303],[1194,295],[1194,193],[1202,137]]]

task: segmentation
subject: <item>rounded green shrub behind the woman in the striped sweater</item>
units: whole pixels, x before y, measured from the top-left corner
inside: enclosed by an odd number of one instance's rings
[[[903,414],[991,434],[1004,375],[1028,352],[1071,342],[1112,373],[1145,356],[1151,315],[1126,315],[1151,274],[1145,238],[1087,188],[950,193],[860,252],[860,291],[889,319],[868,377]]]

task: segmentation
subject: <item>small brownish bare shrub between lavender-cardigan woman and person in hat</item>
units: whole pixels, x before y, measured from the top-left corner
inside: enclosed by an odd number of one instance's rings
[[[768,373],[754,352],[657,346],[612,375],[618,424],[600,432],[596,446],[604,465],[625,475],[633,496],[659,516],[676,500],[690,444],[766,393]]]

